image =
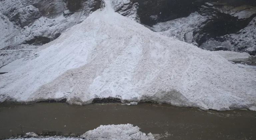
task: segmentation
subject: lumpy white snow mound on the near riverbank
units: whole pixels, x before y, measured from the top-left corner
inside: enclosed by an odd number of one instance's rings
[[[85,132],[81,137],[88,140],[154,140],[154,136],[146,135],[139,131],[138,126],[132,124],[101,125],[100,127]]]

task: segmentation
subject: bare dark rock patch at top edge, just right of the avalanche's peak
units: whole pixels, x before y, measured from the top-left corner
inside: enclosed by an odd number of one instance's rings
[[[141,23],[152,26],[157,22],[186,17],[197,11],[204,0],[135,0],[135,2],[139,4],[138,16]]]

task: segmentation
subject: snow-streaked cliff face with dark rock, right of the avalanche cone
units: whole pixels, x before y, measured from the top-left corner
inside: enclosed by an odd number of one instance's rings
[[[200,48],[256,53],[256,1],[113,0],[116,12]],[[123,6],[127,5],[125,8]],[[136,6],[133,6],[136,5]],[[130,7],[130,8],[129,8]],[[129,15],[127,17],[130,17]],[[239,39],[238,39],[239,38]]]

